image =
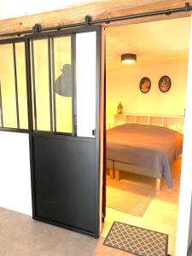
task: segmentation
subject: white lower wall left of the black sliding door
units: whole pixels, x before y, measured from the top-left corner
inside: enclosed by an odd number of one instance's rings
[[[32,215],[29,136],[0,131],[0,207]]]

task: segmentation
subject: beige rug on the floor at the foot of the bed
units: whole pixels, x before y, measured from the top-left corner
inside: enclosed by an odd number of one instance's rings
[[[107,207],[143,217],[143,213],[155,195],[156,190],[153,180],[148,183],[148,181],[143,181],[141,176],[134,175],[134,178],[130,177],[130,179],[116,181],[115,179],[109,179],[107,176]]]

